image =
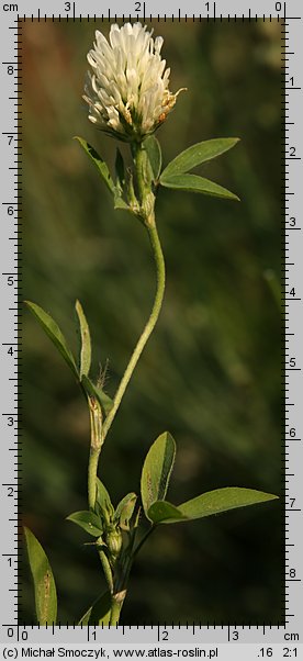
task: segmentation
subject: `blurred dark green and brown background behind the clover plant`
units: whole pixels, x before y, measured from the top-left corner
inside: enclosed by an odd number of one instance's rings
[[[113,395],[150,310],[155,276],[144,228],[114,212],[72,136],[113,166],[115,144],[81,102],[100,22],[23,25],[24,298],[46,309],[75,351],[80,299]],[[239,136],[201,171],[239,204],[161,189],[167,293],[155,334],[108,437],[100,475],[115,503],[139,490],[144,457],[168,429],[178,446],[169,500],[239,485],[281,490],[281,43],[279,23],[155,21],[172,91],[158,131],[165,164],[189,145]],[[124,147],[123,147],[124,149]],[[89,422],[67,367],[24,313],[24,524],[50,559],[59,619],[77,621],[104,586],[92,547],[65,517],[86,508]],[[283,621],[281,502],[150,538],[134,567],[122,623]],[[34,618],[23,559],[20,619]]]

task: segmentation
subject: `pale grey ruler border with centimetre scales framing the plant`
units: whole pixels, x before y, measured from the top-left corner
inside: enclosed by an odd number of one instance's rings
[[[90,2],[91,7],[98,2]],[[197,8],[194,7],[197,4]],[[248,3],[249,4],[249,3]],[[173,7],[173,5],[172,5]],[[1,9],[2,8],[2,9]],[[249,649],[256,650],[252,658],[263,656],[276,656],[276,649],[289,650],[281,656],[299,658],[299,635],[303,635],[302,627],[302,561],[303,544],[300,536],[302,520],[302,486],[300,482],[299,467],[302,464],[302,416],[300,411],[300,390],[302,391],[302,355],[300,347],[300,332],[302,329],[302,282],[303,273],[300,264],[300,248],[302,248],[302,203],[300,200],[300,187],[302,186],[302,130],[300,120],[303,115],[302,103],[302,74],[300,61],[303,61],[303,30],[302,18],[296,2],[254,2],[254,7],[246,7],[239,0],[228,3],[225,8],[221,2],[193,2],[187,3],[187,13],[180,9],[169,10],[166,3],[166,13],[157,7],[157,2],[133,2],[128,4],[126,12],[119,7],[104,11],[103,14],[89,13],[82,2],[52,2],[52,13],[45,12],[34,0],[20,3],[2,3],[0,13],[1,21],[1,61],[2,77],[2,109],[1,113],[1,137],[4,154],[0,158],[1,180],[4,182],[1,191],[1,212],[3,220],[13,220],[10,235],[8,223],[1,223],[1,370],[0,388],[3,412],[1,411],[2,439],[5,445],[4,463],[1,468],[1,519],[2,529],[5,534],[1,541],[1,600],[8,603],[5,618],[1,624],[1,642],[7,646],[14,642],[31,643],[71,643],[80,646],[102,642],[102,645],[130,643],[153,645],[202,645],[203,647],[217,646],[223,650],[224,659],[238,659],[246,656],[250,659]],[[197,9],[197,11],[195,11]],[[191,13],[190,13],[191,10]],[[178,623],[155,626],[126,627],[109,629],[102,627],[75,627],[74,625],[59,625],[56,627],[22,626],[18,621],[18,509],[20,506],[20,493],[18,490],[19,472],[21,470],[21,432],[22,432],[22,386],[20,368],[20,305],[21,295],[21,243],[22,243],[22,187],[20,184],[20,172],[22,169],[22,52],[19,36],[22,23],[25,21],[115,21],[116,18],[127,20],[141,20],[145,22],[156,21],[262,21],[278,20],[282,25],[282,76],[281,76],[281,110],[282,110],[282,134],[285,142],[284,154],[281,155],[281,177],[284,184],[282,190],[281,216],[282,216],[282,245],[285,253],[284,262],[284,317],[285,317],[285,352],[282,356],[283,389],[285,390],[285,434],[283,430],[283,460],[285,464],[285,624],[238,626],[235,624],[221,625],[210,623],[200,626],[199,623],[189,623],[180,627]],[[301,33],[301,40],[300,40]],[[7,54],[10,55],[7,55]],[[3,55],[2,55],[3,54]],[[5,54],[5,55],[4,55]],[[12,72],[11,72],[12,69]],[[12,81],[13,80],[13,85]],[[284,122],[283,122],[284,119]],[[11,131],[10,131],[11,130]],[[5,143],[7,141],[7,143]],[[11,143],[13,148],[11,148]],[[5,197],[4,197],[5,192]],[[12,219],[11,219],[12,216]],[[5,225],[4,227],[2,225]],[[3,250],[3,260],[2,260]],[[11,294],[13,292],[13,294]],[[9,356],[9,359],[8,359]],[[12,421],[12,422],[11,422]],[[18,506],[19,505],[19,506]],[[7,563],[7,564],[5,564]],[[9,569],[9,571],[8,571]],[[301,603],[301,608],[300,608]],[[1,608],[1,614],[4,612]],[[8,616],[9,615],[9,616]],[[245,652],[242,652],[242,643],[245,643]],[[226,647],[225,649],[225,646]],[[211,648],[209,648],[211,649]],[[263,652],[260,650],[263,649]],[[268,653],[271,649],[272,653]],[[228,651],[227,651],[228,650]],[[259,653],[257,654],[257,650]],[[220,652],[221,653],[221,652]],[[255,652],[254,652],[255,653]],[[228,654],[228,656],[227,656]],[[231,657],[229,657],[231,654]],[[281,656],[279,658],[281,658]]]

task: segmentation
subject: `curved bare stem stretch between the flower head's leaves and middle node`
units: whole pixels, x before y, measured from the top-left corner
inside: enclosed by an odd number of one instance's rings
[[[150,313],[150,316],[148,318],[148,322],[136,344],[136,347],[134,349],[134,352],[131,357],[131,360],[126,367],[126,370],[123,374],[123,378],[121,380],[121,383],[119,385],[119,389],[116,391],[115,397],[114,397],[114,403],[113,403],[113,407],[111,408],[103,428],[102,428],[102,441],[104,442],[104,439],[106,437],[106,434],[110,430],[110,427],[114,421],[115,414],[119,410],[119,406],[121,404],[122,397],[125,393],[125,390],[127,388],[127,384],[132,378],[133,371],[137,365],[137,361],[142,355],[142,351],[148,340],[149,335],[153,333],[155,325],[157,323],[160,310],[161,310],[161,304],[162,304],[162,300],[164,300],[164,293],[165,293],[165,260],[164,260],[164,255],[162,255],[162,250],[161,250],[161,244],[159,240],[159,236],[157,233],[157,227],[156,227],[156,223],[155,223],[155,219],[154,216],[152,216],[149,219],[149,224],[147,224],[146,222],[146,227],[147,227],[147,232],[149,235],[149,239],[150,239],[150,244],[153,247],[153,254],[154,254],[154,259],[155,259],[155,264],[156,264],[156,271],[157,271],[157,291],[156,291],[156,296],[155,296],[155,301],[154,301],[154,305],[153,305],[153,310]]]

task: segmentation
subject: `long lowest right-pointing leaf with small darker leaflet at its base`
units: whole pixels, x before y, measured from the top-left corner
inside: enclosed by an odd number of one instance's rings
[[[272,493],[256,491],[255,489],[242,489],[239,486],[227,486],[203,493],[182,505],[171,505],[167,502],[155,503],[148,511],[148,516],[154,523],[171,524],[195,518],[213,516],[229,509],[258,505],[278,498]]]

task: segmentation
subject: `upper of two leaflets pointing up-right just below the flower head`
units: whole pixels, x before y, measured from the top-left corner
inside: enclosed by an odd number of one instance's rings
[[[232,147],[234,147],[238,141],[238,137],[218,137],[192,145],[184,152],[181,152],[181,154],[176,156],[176,158],[168,164],[161,173],[160,182],[162,183],[162,180],[171,175],[181,175],[182,172],[188,172],[202,163],[221,156],[221,154],[224,154],[224,152],[232,149]]]

